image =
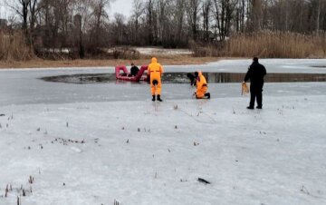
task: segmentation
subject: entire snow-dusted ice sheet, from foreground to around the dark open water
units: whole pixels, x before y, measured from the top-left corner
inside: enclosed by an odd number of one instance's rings
[[[326,83],[266,83],[247,111],[237,83],[209,101],[164,84],[154,103],[144,83],[38,79],[104,71],[0,72],[0,204],[326,204]]]

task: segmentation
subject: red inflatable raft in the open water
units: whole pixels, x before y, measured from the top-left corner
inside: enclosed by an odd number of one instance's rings
[[[147,72],[145,72],[147,70],[148,70],[148,65],[142,65],[140,67],[139,73],[136,76],[129,76],[130,73],[126,68],[126,66],[119,65],[116,66],[115,72],[116,72],[117,80],[139,82],[139,81],[147,81],[148,75]],[[120,71],[122,72],[120,73]]]

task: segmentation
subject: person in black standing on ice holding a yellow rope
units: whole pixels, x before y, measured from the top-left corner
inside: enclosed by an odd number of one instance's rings
[[[247,109],[254,109],[254,101],[257,100],[257,109],[263,108],[263,86],[266,69],[263,64],[258,63],[258,58],[254,57],[253,63],[249,66],[245,74],[244,83],[250,79],[250,103]]]

